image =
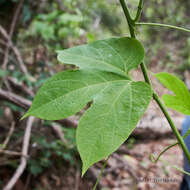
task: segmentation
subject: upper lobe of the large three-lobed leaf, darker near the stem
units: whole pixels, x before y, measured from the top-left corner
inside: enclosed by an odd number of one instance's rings
[[[88,45],[58,51],[61,63],[79,66],[80,69],[96,69],[126,76],[144,58],[142,45],[132,38],[110,38]]]

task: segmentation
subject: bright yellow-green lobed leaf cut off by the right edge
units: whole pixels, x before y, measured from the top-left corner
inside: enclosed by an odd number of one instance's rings
[[[185,115],[190,115],[190,93],[185,84],[176,76],[166,72],[155,74],[155,76],[174,93],[174,95],[163,95],[165,105]]]

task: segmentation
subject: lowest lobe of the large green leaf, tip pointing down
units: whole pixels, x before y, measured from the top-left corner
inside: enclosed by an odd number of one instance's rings
[[[98,94],[77,128],[82,174],[109,156],[129,137],[145,112],[151,89],[144,82],[116,81]]]

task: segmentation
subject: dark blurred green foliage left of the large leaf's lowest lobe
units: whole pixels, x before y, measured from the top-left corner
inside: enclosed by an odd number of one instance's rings
[[[57,162],[63,162],[65,160],[71,164],[75,163],[75,129],[62,127],[62,130],[67,144],[60,140],[48,142],[48,139],[41,135],[35,135],[32,138],[32,143],[35,144],[38,154],[28,161],[28,170],[34,176],[41,174],[45,169],[55,164],[55,159]]]

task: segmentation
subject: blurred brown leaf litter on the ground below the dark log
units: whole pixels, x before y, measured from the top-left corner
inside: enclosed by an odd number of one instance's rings
[[[180,147],[170,149],[157,163],[152,163],[150,154],[158,155],[174,139],[144,140],[135,142],[130,155],[113,154],[101,178],[99,190],[178,190],[183,174],[173,168],[183,167]],[[126,147],[127,148],[127,147]],[[103,162],[91,169],[98,175]],[[80,169],[63,164],[62,171],[48,169],[34,179],[36,189],[44,190],[92,190],[95,183],[91,170],[81,179]],[[61,173],[61,174],[60,174]],[[20,190],[23,190],[20,186]],[[15,189],[17,190],[17,189]],[[18,188],[19,190],[19,188]],[[29,186],[28,189],[30,190]]]

